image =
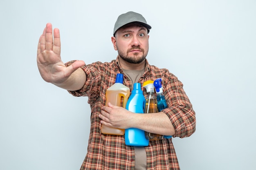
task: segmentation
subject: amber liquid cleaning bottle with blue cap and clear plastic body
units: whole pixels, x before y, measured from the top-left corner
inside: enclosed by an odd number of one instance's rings
[[[126,107],[127,100],[130,96],[130,88],[123,84],[123,80],[123,74],[117,74],[115,84],[106,90],[106,106],[108,106],[108,103],[110,102],[115,106],[120,106],[123,108]],[[124,129],[112,128],[101,124],[101,133],[110,135],[124,135],[124,132]]]

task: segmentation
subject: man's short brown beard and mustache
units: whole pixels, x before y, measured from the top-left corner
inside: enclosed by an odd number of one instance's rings
[[[139,56],[139,53],[133,53],[134,55],[132,55],[132,56],[128,55],[128,53],[130,51],[135,50],[135,49],[142,51],[143,54],[140,56]],[[148,54],[148,50],[145,53],[144,49],[141,49],[139,47],[132,47],[132,48],[128,49],[126,51],[126,53],[120,51],[117,47],[117,51],[118,51],[119,57],[121,57],[124,61],[131,63],[131,64],[139,64],[139,63],[143,62]]]

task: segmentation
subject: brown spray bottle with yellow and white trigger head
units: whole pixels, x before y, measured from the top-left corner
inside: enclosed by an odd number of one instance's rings
[[[146,106],[144,113],[158,113],[157,109],[157,98],[155,95],[154,81],[147,80],[143,83],[143,87],[146,88],[147,96],[146,96]],[[163,135],[158,135],[155,133],[145,132],[146,138],[149,140],[159,140],[163,139]]]

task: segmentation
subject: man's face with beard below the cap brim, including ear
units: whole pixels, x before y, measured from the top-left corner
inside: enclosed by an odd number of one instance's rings
[[[138,64],[145,60],[148,54],[148,31],[144,26],[131,24],[121,27],[112,37],[114,49],[126,62]]]

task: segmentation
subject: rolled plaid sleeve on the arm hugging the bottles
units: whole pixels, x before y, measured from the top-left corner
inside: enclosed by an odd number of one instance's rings
[[[169,75],[163,82],[163,86],[168,108],[162,112],[168,115],[176,130],[173,137],[189,137],[195,132],[195,111],[183,90],[182,82],[174,75]]]

